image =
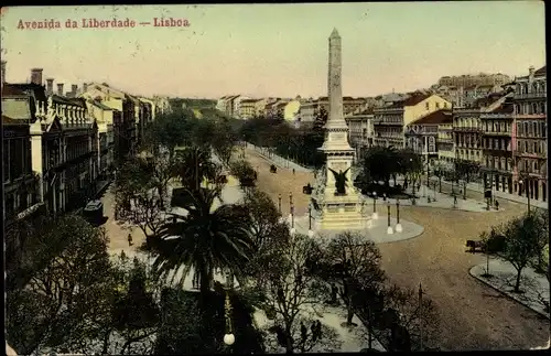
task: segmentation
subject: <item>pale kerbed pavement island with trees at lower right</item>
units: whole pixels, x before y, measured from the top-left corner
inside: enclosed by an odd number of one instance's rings
[[[486,273],[486,262],[474,266],[468,272],[479,281],[549,319],[549,309],[545,311],[543,305],[543,301],[549,303],[549,281],[544,276],[536,273],[530,267],[522,270],[520,278],[520,289],[523,293],[512,292],[517,271],[507,261],[490,258],[490,277],[483,276]]]

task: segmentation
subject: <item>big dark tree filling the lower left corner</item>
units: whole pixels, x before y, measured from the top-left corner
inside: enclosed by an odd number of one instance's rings
[[[21,354],[69,347],[84,352],[101,332],[110,271],[107,237],[78,216],[45,225],[32,247],[47,256],[26,288],[8,291],[7,337]]]

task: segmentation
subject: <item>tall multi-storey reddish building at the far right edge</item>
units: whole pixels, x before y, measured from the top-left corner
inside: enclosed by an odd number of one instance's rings
[[[516,191],[532,199],[548,199],[547,67],[531,66],[515,83],[512,147]],[[522,182],[521,184],[519,184]]]

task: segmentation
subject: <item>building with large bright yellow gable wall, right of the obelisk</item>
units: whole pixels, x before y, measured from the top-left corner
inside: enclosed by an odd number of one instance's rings
[[[451,103],[433,94],[415,94],[374,110],[374,144],[378,147],[406,147],[408,125],[440,109],[450,109]]]

